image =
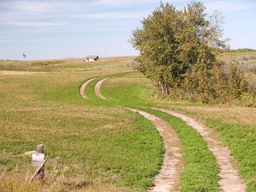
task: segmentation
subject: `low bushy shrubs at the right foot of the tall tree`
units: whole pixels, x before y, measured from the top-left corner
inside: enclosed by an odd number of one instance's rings
[[[193,66],[171,95],[173,99],[182,95],[181,99],[192,102],[221,104],[233,101],[252,107],[255,106],[256,90],[251,78],[246,68],[234,62],[225,67],[214,65],[211,69],[204,65],[202,68]]]

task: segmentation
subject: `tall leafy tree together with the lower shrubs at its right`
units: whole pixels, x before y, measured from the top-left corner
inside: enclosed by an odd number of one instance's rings
[[[226,69],[216,58],[228,40],[221,40],[220,14],[204,11],[196,1],[184,10],[161,3],[132,33],[130,42],[140,50],[136,70],[174,100],[227,103],[246,95],[252,106],[256,92],[247,72],[234,63]]]

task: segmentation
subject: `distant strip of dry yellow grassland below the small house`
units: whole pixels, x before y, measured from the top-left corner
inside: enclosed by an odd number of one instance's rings
[[[33,61],[0,61],[0,71],[3,74],[11,71],[24,72],[84,72],[93,70],[111,70],[111,68],[118,68],[122,71],[124,68],[131,70],[132,66],[129,63],[136,58],[135,56],[120,56],[120,57],[106,57],[100,58],[99,61],[85,62],[84,58],[67,58],[60,60],[33,60]],[[13,72],[14,74],[14,72]],[[15,73],[20,74],[20,73]]]

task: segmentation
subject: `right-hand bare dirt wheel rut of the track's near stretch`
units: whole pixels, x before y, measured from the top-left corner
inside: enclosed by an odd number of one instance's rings
[[[157,109],[157,108],[154,108]],[[168,109],[157,109],[168,113],[173,116],[177,116],[184,120],[189,126],[196,129],[196,131],[201,134],[204,140],[207,142],[209,150],[211,150],[212,154],[216,157],[216,163],[218,163],[220,167],[220,177],[219,180],[221,191],[227,192],[242,192],[245,191],[245,184],[243,179],[241,179],[241,175],[237,170],[236,160],[231,156],[231,152],[229,148],[225,145],[225,143],[221,141],[216,141],[214,139],[214,132],[211,131],[207,126],[198,122],[194,118],[189,116],[177,113],[175,111],[171,111]]]

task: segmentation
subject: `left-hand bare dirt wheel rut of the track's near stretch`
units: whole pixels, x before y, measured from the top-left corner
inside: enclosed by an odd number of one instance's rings
[[[180,172],[183,169],[184,161],[182,159],[182,145],[180,144],[177,133],[172,129],[168,122],[157,116],[137,109],[125,109],[138,112],[140,115],[145,116],[145,118],[150,120],[156,126],[156,129],[163,138],[165,150],[163,164],[161,170],[154,178],[154,187],[150,188],[150,191],[164,192],[178,190]]]

